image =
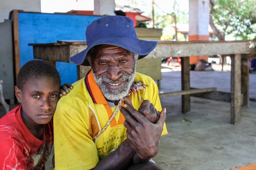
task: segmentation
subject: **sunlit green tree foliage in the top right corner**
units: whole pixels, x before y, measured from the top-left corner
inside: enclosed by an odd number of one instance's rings
[[[225,35],[232,34],[236,39],[256,37],[255,0],[211,0],[214,25]]]

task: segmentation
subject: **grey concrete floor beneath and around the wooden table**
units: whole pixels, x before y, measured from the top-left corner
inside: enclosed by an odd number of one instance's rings
[[[194,88],[230,92],[230,65],[191,71]],[[162,64],[159,92],[181,90],[181,68]],[[250,74],[250,98],[256,98],[256,74]],[[230,124],[230,103],[191,97],[191,111],[181,113],[181,96],[161,98],[167,109],[168,135],[162,136],[154,161],[165,170],[230,170],[256,162],[256,102],[241,107],[241,122]],[[14,108],[16,105],[10,106]],[[0,117],[4,109],[0,105]],[[46,170],[52,169],[51,158]]]

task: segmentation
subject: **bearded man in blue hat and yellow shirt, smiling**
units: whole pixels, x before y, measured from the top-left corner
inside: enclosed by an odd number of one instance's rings
[[[69,60],[91,70],[54,115],[55,169],[162,169],[151,158],[167,134],[166,109],[154,80],[135,71],[157,42],[139,40],[124,16],[93,21],[86,41]]]

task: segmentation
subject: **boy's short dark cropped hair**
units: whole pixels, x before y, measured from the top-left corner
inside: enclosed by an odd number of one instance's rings
[[[20,68],[17,77],[17,86],[22,90],[27,81],[40,77],[51,78],[59,86],[61,85],[59,72],[52,64],[44,60],[31,60]]]

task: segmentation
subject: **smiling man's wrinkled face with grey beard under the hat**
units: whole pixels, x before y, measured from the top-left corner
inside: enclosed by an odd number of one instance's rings
[[[91,64],[95,81],[108,100],[127,95],[135,77],[132,52],[113,45],[96,46]]]

